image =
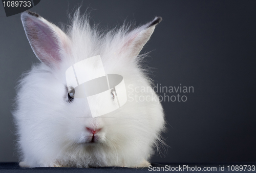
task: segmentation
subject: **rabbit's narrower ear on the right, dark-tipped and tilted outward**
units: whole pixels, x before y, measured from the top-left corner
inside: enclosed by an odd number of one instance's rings
[[[155,27],[162,17],[155,17],[153,21],[147,23],[141,27],[136,28],[127,34],[123,41],[123,46],[121,51],[131,51],[132,56],[137,56],[146,42],[150,39]]]

